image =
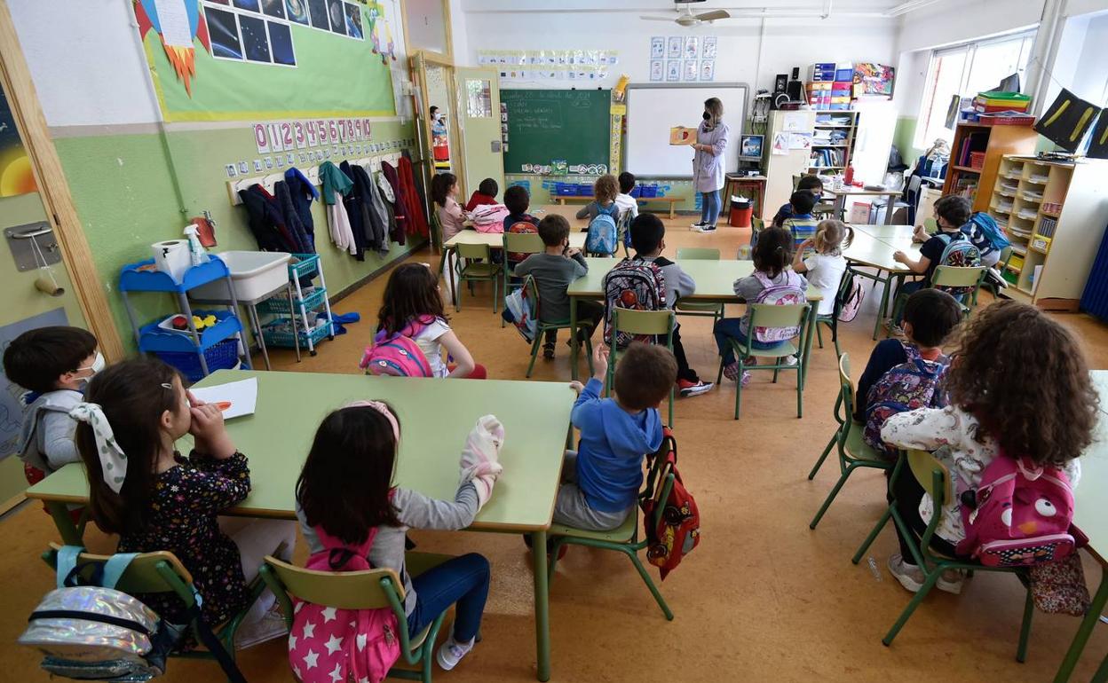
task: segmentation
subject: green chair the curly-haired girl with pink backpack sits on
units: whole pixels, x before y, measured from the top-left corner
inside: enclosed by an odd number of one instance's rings
[[[905,472],[907,469],[909,472]],[[915,532],[912,531],[907,522],[901,516],[900,510],[896,507],[896,499],[894,491],[896,490],[897,477],[902,476],[914,476],[920,483],[920,486],[931,495],[934,500],[935,514],[931,516],[931,521],[927,524],[927,528],[924,530],[923,536],[919,539],[915,537]],[[873,539],[878,537],[881,529],[884,528],[885,524],[892,518],[893,522],[896,525],[897,530],[901,536],[907,540],[907,545],[912,550],[912,560],[915,562],[923,573],[925,579],[923,587],[915,593],[915,597],[907,603],[904,611],[901,613],[896,623],[893,624],[889,633],[885,634],[881,642],[885,645],[891,645],[893,639],[900,632],[904,624],[907,622],[909,618],[912,617],[912,612],[915,608],[920,606],[921,602],[934,588],[935,582],[942,576],[943,571],[948,569],[964,569],[967,571],[1004,571],[1008,573],[1015,573],[1020,582],[1025,587],[1028,586],[1027,582],[1027,570],[1025,568],[1017,567],[986,567],[979,562],[972,562],[966,560],[960,560],[955,558],[945,557],[934,552],[931,547],[931,539],[935,535],[935,529],[943,520],[943,504],[947,500],[953,499],[954,488],[951,482],[951,475],[946,470],[946,467],[936,460],[926,451],[902,451],[900,458],[896,460],[896,466],[893,467],[892,477],[889,480],[889,497],[892,503],[889,504],[889,508],[885,510],[881,519],[878,520],[876,526],[870,531],[870,535],[862,542],[862,547],[858,549],[854,557],[851,559],[855,565],[861,561],[862,556],[869,550],[870,545]],[[1030,634],[1032,630],[1032,613],[1035,611],[1035,603],[1032,601],[1030,589],[1027,588],[1027,597],[1024,601],[1024,620],[1023,625],[1019,629],[1019,645],[1016,649],[1016,661],[1023,662],[1027,655],[1027,637]]]

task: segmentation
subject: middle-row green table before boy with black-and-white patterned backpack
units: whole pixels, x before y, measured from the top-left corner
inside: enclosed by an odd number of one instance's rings
[[[570,325],[576,327],[577,322],[577,299],[604,299],[604,276],[620,261],[617,258],[587,258],[588,272],[584,277],[574,280],[566,293],[570,294]],[[735,281],[752,275],[755,271],[753,261],[737,260],[678,260],[681,270],[689,273],[696,280],[696,292],[688,297],[681,297],[681,301],[695,301],[699,303],[740,303],[741,300],[735,294]],[[822,299],[819,290],[809,287],[808,300],[815,302]],[[602,323],[603,324],[603,323]],[[804,342],[808,346],[804,350],[804,358],[812,345],[812,335],[815,332],[815,315],[808,317],[808,333]],[[570,366],[573,369],[573,379],[577,379],[577,335],[571,338]],[[804,372],[801,373],[801,383],[804,381]]]

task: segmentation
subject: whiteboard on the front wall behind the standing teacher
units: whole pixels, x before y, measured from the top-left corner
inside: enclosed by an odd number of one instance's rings
[[[669,144],[669,128],[695,128],[702,121],[704,101],[719,97],[724,122],[731,128],[725,153],[725,170],[739,168],[739,138],[747,112],[747,86],[742,83],[701,85],[630,85],[627,87],[627,138],[625,170],[636,176],[688,178],[693,176],[693,149]]]

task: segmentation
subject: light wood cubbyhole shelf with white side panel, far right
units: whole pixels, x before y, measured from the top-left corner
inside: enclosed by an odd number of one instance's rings
[[[1004,155],[986,210],[1012,241],[1002,294],[1076,311],[1108,225],[1108,162]],[[985,193],[982,193],[985,196]],[[976,207],[975,207],[976,208]]]

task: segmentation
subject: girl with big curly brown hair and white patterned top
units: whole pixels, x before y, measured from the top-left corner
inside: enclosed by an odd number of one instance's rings
[[[955,493],[943,506],[931,545],[952,557],[965,537],[960,495],[981,485],[993,458],[1003,452],[1053,465],[1076,487],[1081,474],[1077,457],[1092,442],[1099,420],[1080,344],[1033,306],[999,301],[977,313],[963,329],[955,358],[944,385],[948,406],[894,415],[881,430],[886,444],[935,451],[950,469]],[[897,507],[919,536],[931,517],[931,497],[911,473],[897,480]],[[889,570],[912,592],[923,583],[903,539],[900,553],[889,558]],[[944,575],[936,586],[960,592],[955,573]]]

